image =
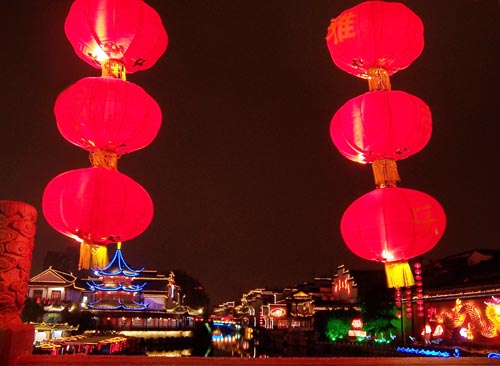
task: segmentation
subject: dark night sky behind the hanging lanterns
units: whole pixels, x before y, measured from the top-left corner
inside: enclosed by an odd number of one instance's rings
[[[164,56],[128,75],[160,104],[163,125],[119,170],[153,198],[153,223],[124,243],[135,267],[183,269],[213,302],[255,287],[289,286],[338,265],[381,269],[340,236],[347,206],[374,188],[370,166],[343,158],[330,119],[367,83],[330,59],[330,18],[354,0],[149,0],[169,35]],[[425,28],[422,55],[392,77],[423,99],[433,135],[398,164],[400,186],[435,197],[447,229],[426,258],[500,249],[500,15],[496,0],[404,1]],[[47,250],[75,245],[46,223],[42,192],[89,166],[59,134],[53,105],[98,76],[73,53],[70,0],[2,6],[0,198],[39,211],[32,274]]]

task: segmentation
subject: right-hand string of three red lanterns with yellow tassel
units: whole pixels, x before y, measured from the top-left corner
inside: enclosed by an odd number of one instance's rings
[[[367,1],[332,19],[326,40],[334,63],[368,79],[370,90],[344,104],[330,125],[342,155],[372,164],[377,187],[345,211],[341,233],[356,255],[385,263],[396,304],[401,306],[404,297],[411,316],[415,279],[408,260],[432,249],[446,226],[434,198],[397,187],[396,161],[423,149],[432,132],[428,106],[408,93],[391,91],[389,78],[422,52],[422,22],[401,3]]]

